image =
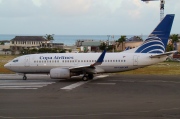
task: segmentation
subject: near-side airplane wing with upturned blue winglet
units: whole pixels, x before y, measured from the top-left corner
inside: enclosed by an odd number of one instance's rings
[[[91,64],[91,65],[82,65],[82,66],[77,66],[77,67],[70,67],[69,69],[72,72],[86,71],[86,72],[89,72],[89,73],[97,73],[97,70],[96,70],[95,66],[102,64],[105,54],[106,54],[106,50],[104,50],[102,52],[102,54],[99,56],[99,58],[97,59],[97,61],[95,63]]]

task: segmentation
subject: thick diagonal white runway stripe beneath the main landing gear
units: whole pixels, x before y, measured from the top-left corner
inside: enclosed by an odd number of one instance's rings
[[[96,76],[93,80],[96,80],[96,79],[99,79],[99,78],[104,78],[104,77],[107,77],[107,76],[109,76],[109,75]],[[81,85],[83,85],[83,84],[86,84],[86,83],[90,82],[90,81],[92,81],[92,80],[89,80],[89,81],[86,81],[86,82],[85,82],[85,81],[80,81],[80,82],[71,84],[71,85],[69,85],[69,86],[65,86],[65,87],[63,87],[63,88],[61,88],[61,89],[62,89],[62,90],[72,90],[72,89],[77,88],[77,87],[79,87],[79,86],[81,86]]]

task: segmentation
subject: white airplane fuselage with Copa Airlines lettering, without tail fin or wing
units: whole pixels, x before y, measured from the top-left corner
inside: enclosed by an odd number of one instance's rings
[[[91,65],[101,53],[47,53],[24,55],[7,63],[5,67],[17,73],[49,73],[53,68],[73,68]],[[148,53],[106,53],[96,73],[120,72],[164,61],[167,57],[150,58]]]

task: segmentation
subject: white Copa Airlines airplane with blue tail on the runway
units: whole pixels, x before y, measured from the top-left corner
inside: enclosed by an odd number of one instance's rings
[[[174,21],[168,14],[137,48],[118,53],[45,53],[17,57],[5,68],[23,74],[49,74],[52,79],[70,79],[83,75],[82,80],[93,79],[94,74],[134,70],[162,61],[174,52],[165,52]]]

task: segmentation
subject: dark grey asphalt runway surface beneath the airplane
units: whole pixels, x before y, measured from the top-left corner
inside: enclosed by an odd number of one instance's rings
[[[0,75],[0,119],[179,119],[180,76]]]

